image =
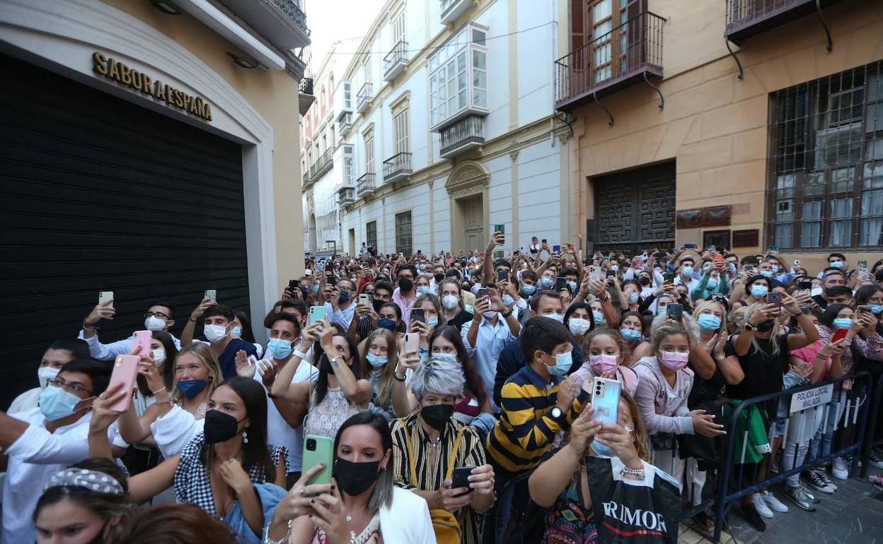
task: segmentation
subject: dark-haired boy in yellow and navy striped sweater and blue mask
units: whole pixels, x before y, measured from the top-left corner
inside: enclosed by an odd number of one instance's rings
[[[562,383],[574,367],[567,327],[547,317],[533,317],[518,341],[529,364],[502,386],[502,414],[487,436],[487,458],[494,467],[499,501],[497,526],[488,529],[495,529],[497,543],[502,541],[511,510],[525,507],[522,494],[513,494],[511,487],[503,492],[506,484],[540,464],[552,448],[555,433],[570,428],[589,399],[578,380],[568,378]]]

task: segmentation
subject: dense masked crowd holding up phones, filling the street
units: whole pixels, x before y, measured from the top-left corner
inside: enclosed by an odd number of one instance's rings
[[[599,520],[616,513],[595,508],[602,487],[665,485],[684,511],[713,496],[740,402],[883,375],[883,261],[832,253],[810,271],[776,251],[504,244],[495,232],[484,252],[307,256],[268,309],[266,344],[223,293],[189,315],[152,303],[133,390],[109,384],[136,335],[103,342],[115,309],[100,303],[0,412],[2,541],[604,541]],[[599,384],[615,395],[603,407]],[[743,478],[851,443],[844,411],[868,385],[843,382],[824,410],[743,411]],[[331,466],[307,466],[322,441]],[[758,531],[786,503],[814,510],[849,462],[739,510]]]

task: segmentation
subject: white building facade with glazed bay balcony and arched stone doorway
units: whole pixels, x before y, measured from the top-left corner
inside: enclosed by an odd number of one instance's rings
[[[563,0],[384,5],[336,83],[350,89],[345,104],[335,95],[337,153],[353,165],[336,190],[338,249],[478,250],[495,224],[506,251],[570,240],[570,131],[550,68],[566,12]]]

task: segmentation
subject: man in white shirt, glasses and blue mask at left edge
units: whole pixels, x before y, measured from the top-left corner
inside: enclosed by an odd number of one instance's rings
[[[92,400],[109,380],[107,364],[74,359],[49,381],[40,407],[14,417],[0,412],[0,450],[9,458],[0,541],[34,542],[31,514],[42,489],[58,471],[89,456]]]

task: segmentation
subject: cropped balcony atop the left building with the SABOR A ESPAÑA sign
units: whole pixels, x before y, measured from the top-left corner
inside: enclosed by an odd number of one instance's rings
[[[287,50],[310,44],[306,14],[295,0],[220,0],[275,47]]]

